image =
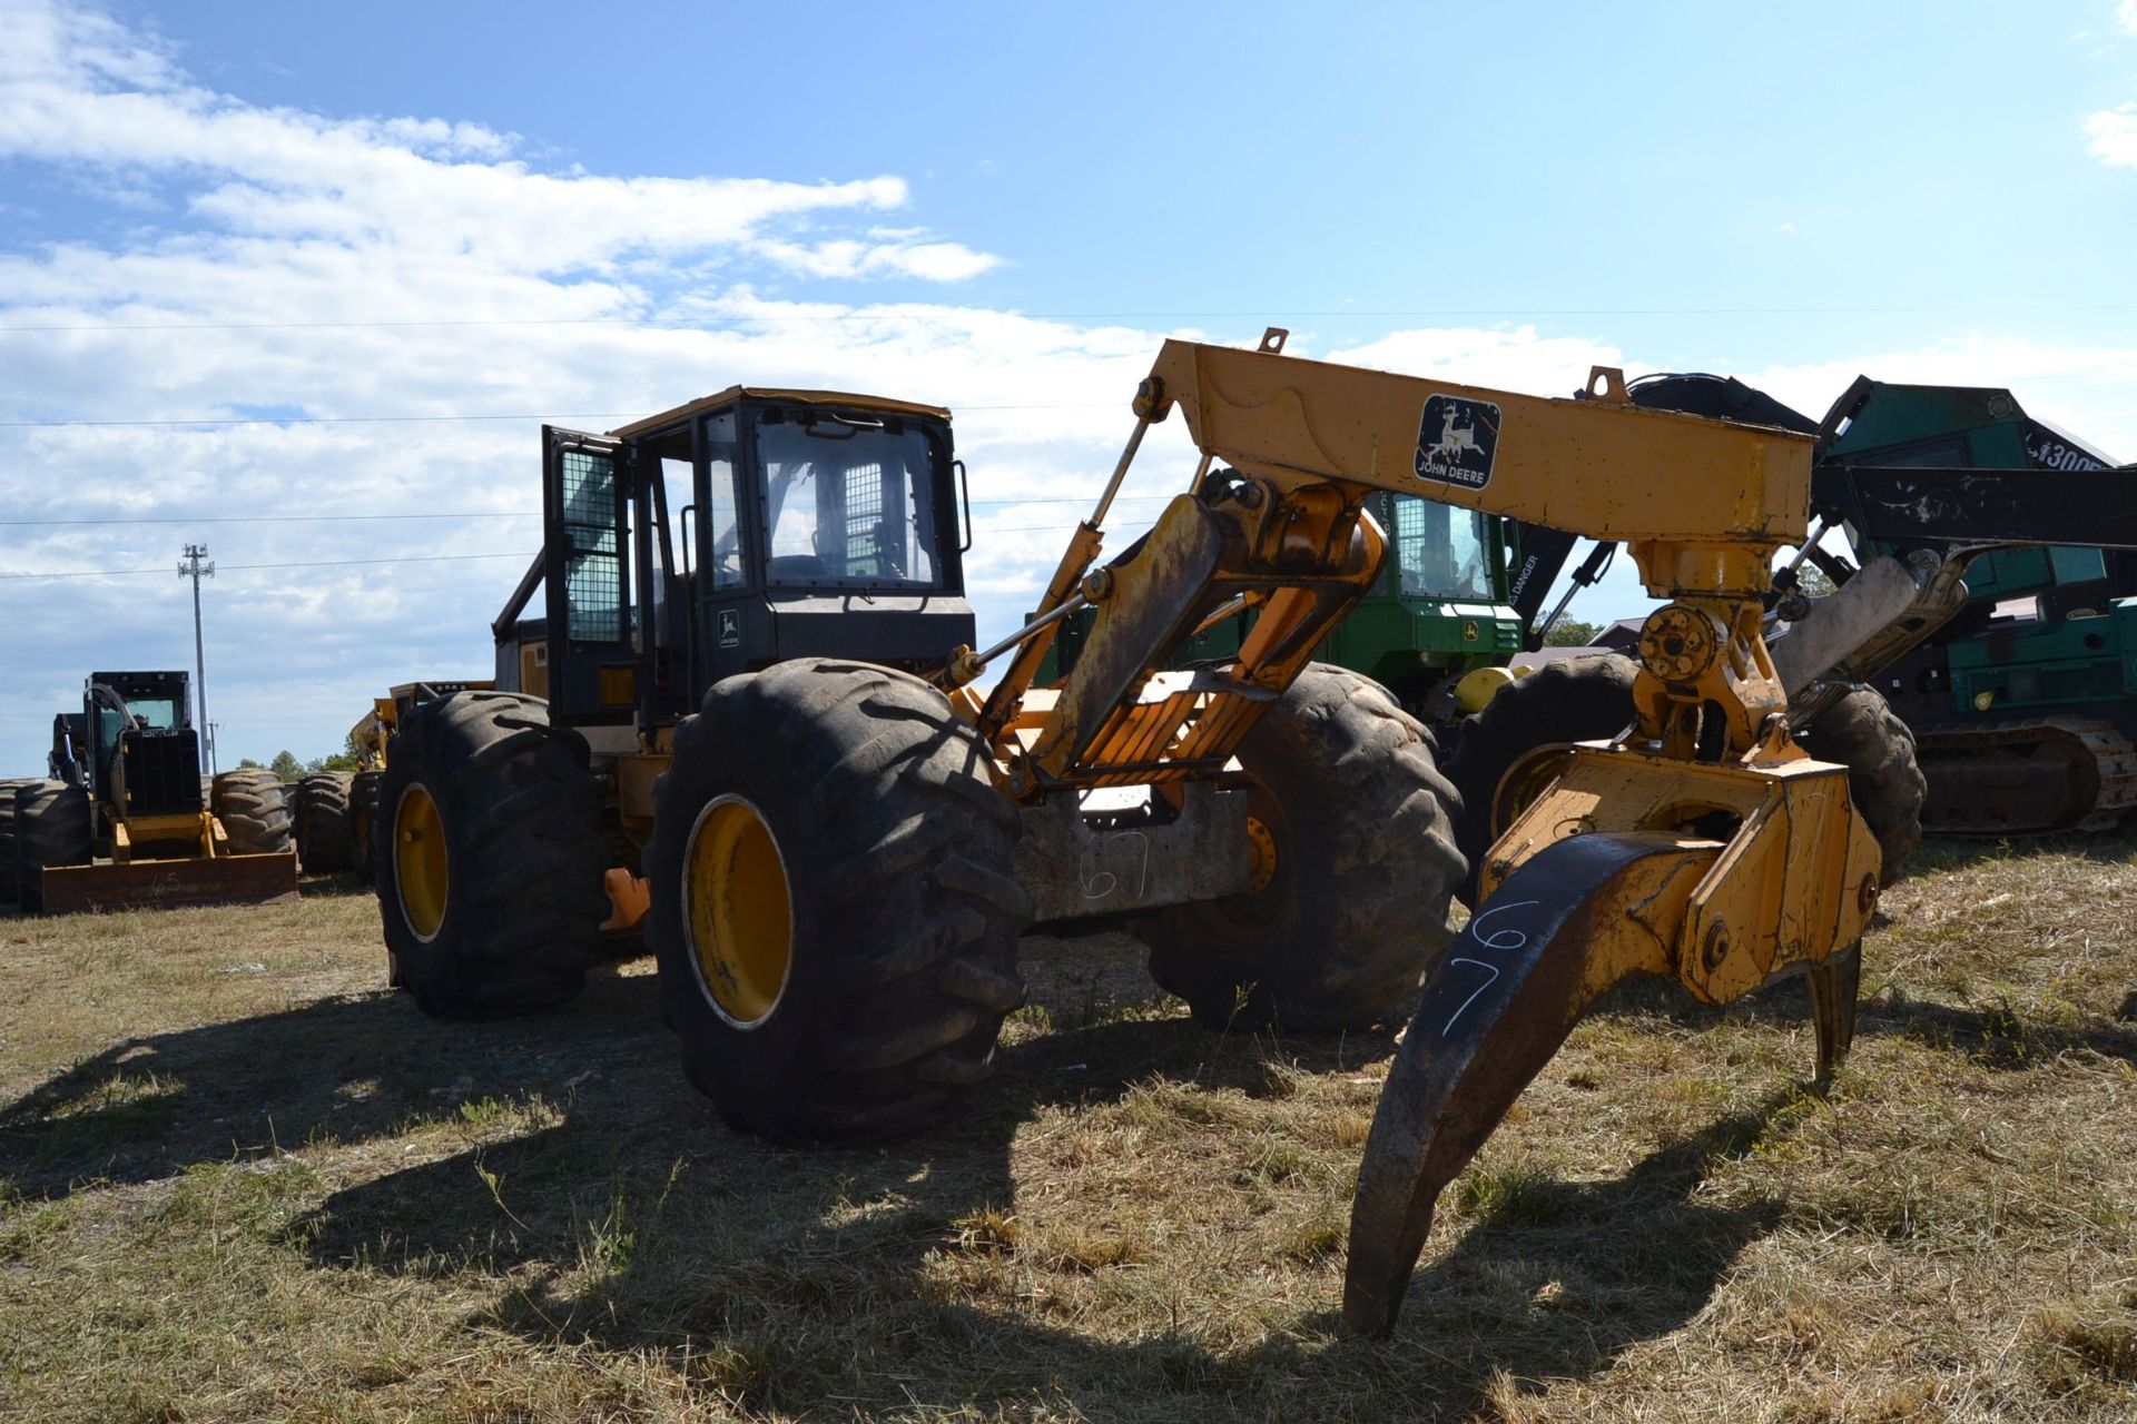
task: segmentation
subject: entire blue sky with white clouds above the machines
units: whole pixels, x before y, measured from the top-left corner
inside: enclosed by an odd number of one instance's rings
[[[190,664],[186,540],[224,764],[483,670],[539,418],[737,380],[957,408],[983,634],[1167,333],[2009,384],[2137,457],[2137,0],[1329,9],[0,0],[0,506],[171,521],[0,525],[0,574],[158,570],[0,579],[0,771],[90,666]]]

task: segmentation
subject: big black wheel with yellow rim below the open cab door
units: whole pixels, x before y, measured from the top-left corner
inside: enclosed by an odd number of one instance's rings
[[[600,781],[545,702],[459,692],[410,711],[374,822],[391,982],[425,1014],[530,1014],[586,986],[609,914]]]

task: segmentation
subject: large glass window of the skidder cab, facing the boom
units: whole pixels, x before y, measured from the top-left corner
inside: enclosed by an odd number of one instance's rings
[[[774,585],[859,583],[932,589],[936,557],[936,446],[910,423],[801,425],[786,410],[756,414],[765,470]]]

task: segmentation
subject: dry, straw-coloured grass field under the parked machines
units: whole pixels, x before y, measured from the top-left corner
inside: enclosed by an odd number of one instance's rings
[[[1030,939],[1000,1076],[795,1153],[643,963],[447,1027],[376,912],[0,920],[9,1420],[2131,1420],[2137,839],[1932,843],[1829,1097],[1799,986],[1605,1006],[1340,1339],[1387,1044]]]

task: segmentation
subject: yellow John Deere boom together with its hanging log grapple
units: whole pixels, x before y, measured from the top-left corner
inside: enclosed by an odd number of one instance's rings
[[[1539,399],[1261,350],[1167,342],[1098,512],[1056,570],[1002,681],[966,715],[1024,803],[1222,775],[1248,728],[1381,568],[1372,491],[1419,493],[1624,540],[1669,600],[1639,640],[1635,726],[1575,749],[1481,867],[1477,916],[1425,980],[1353,1208],[1344,1311],[1387,1330],[1440,1187],[1631,974],[1710,1003],[1812,976],[1821,1072],[1853,1027],[1878,845],[1846,771],[1789,734],[1761,638],[1772,557],[1806,538],[1812,440],[1635,408],[1618,371]],[[1188,493],[1098,568],[1105,508],[1171,410],[1201,461]],[[1096,608],[1071,675],[1034,687],[1058,617]],[[1195,630],[1259,608],[1227,668],[1167,673]],[[1051,621],[1049,621],[1051,619]],[[968,683],[981,655],[953,660]]]

